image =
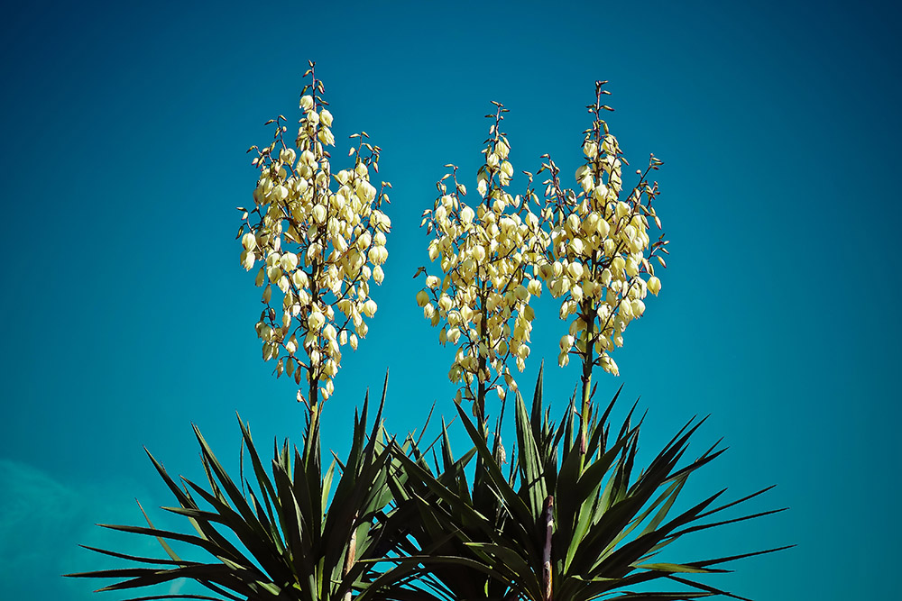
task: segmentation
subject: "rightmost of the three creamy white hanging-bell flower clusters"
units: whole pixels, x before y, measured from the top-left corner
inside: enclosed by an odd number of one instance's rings
[[[651,155],[649,168],[637,171],[639,184],[623,194],[621,171],[627,163],[600,116],[611,110],[601,104],[607,94],[603,83],[596,84],[596,102],[588,107],[595,119],[585,132],[584,164],[576,169],[578,194],[561,189],[557,165],[548,155],[543,157],[547,162],[539,172],[550,172],[543,184],[552,227],[548,262],[539,274],[551,295],[562,299],[560,318],[572,316],[560,340],[558,363],[566,365],[575,354],[588,363],[586,368],[598,365],[617,375],[610,352],[623,345],[627,325],[645,312],[647,293],[658,294],[661,284],[650,259],[656,257],[664,265],[657,253],[667,252],[667,241],[649,239],[649,219],[658,229],[660,220],[653,206],[658,183],[649,184],[647,177],[661,161]]]

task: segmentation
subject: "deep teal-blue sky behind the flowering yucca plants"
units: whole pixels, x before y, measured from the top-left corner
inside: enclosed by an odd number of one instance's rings
[[[452,351],[411,275],[428,261],[419,215],[442,165],[474,186],[489,101],[511,109],[514,168],[535,171],[550,152],[571,178],[583,107],[608,79],[627,157],[666,162],[658,213],[672,243],[661,295],[600,393],[641,396],[649,454],[711,414],[695,451],[722,436],[730,450],[687,499],[777,484],[752,508],[791,507],[702,533],[679,559],[796,543],[711,582],[762,601],[896,596],[899,15],[890,3],[727,4],[7,6],[3,596],[95,598],[100,583],[59,575],[108,565],[79,542],[152,550],[92,525],[140,524],[134,497],[179,524],[156,509],[174,501],[143,445],[200,477],[192,422],[230,465],[235,412],[258,441],[299,437],[294,388],[260,358],[235,206],[253,202],[244,150],[270,139],[262,123],[299,116],[307,59],[335,114],[336,164],[365,130],[394,186],[380,309],[345,353],[327,449],[345,451],[354,406],[386,369],[392,431],[418,428],[434,401],[454,413]],[[560,414],[576,374],[557,369],[563,325],[546,315],[520,382],[530,388],[545,358]]]

